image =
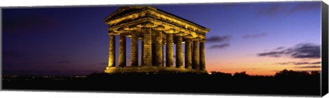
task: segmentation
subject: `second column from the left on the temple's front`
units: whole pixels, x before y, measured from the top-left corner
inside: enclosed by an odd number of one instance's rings
[[[119,39],[119,67],[125,67],[126,61],[125,61],[125,48],[126,48],[126,41],[125,41],[125,35],[120,35]]]

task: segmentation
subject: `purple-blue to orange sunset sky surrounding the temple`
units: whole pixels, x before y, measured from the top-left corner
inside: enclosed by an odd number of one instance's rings
[[[152,6],[210,29],[206,35],[207,71],[274,75],[282,69],[321,70],[320,4],[312,1]],[[72,76],[103,72],[109,44],[103,19],[119,7],[4,8],[3,74]],[[127,65],[130,44],[127,39]]]

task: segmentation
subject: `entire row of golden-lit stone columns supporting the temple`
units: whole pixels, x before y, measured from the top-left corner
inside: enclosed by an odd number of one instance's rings
[[[153,44],[151,39],[151,29],[148,29],[143,33],[142,42],[142,58],[141,64],[144,66],[163,66],[163,45],[162,45],[162,33],[156,33],[156,38]],[[126,37],[125,35],[119,35],[119,67],[126,66]],[[115,66],[115,37],[116,35],[110,35],[110,51],[109,51],[109,63],[108,67]],[[166,34],[166,67],[173,67],[173,34]],[[138,66],[138,36],[132,34],[131,45],[131,66]],[[185,67],[183,66],[183,47],[182,36],[176,36],[176,67],[186,69],[200,69],[205,70],[205,48],[204,42],[197,42],[191,39],[185,39]],[[153,55],[152,55],[153,52]],[[154,55],[155,54],[155,55]],[[154,59],[152,62],[152,58]]]

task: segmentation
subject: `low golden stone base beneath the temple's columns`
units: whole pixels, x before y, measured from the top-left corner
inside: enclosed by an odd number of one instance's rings
[[[137,66],[106,67],[105,73],[207,73],[207,71],[178,67]]]

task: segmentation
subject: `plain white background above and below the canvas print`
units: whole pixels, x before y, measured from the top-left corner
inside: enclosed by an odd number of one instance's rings
[[[0,0],[0,7],[36,7],[36,6],[63,6],[63,5],[114,5],[114,4],[150,4],[150,3],[213,3],[213,2],[255,2],[265,0]],[[267,1],[293,1],[293,0],[267,0]],[[306,0],[298,0],[306,1]],[[328,1],[325,1],[328,3]],[[0,24],[1,26],[1,24]],[[1,29],[0,29],[1,30]],[[1,42],[1,40],[0,40]],[[1,70],[0,70],[1,71]],[[1,81],[0,81],[1,83]],[[329,95],[326,95],[328,97]],[[273,98],[273,97],[291,97],[291,96],[271,96],[271,95],[187,95],[187,94],[165,94],[165,93],[76,93],[64,91],[0,91],[0,97],[35,97],[35,98],[126,98],[126,97],[143,97],[143,98]],[[293,98],[293,97],[291,97]]]

